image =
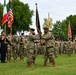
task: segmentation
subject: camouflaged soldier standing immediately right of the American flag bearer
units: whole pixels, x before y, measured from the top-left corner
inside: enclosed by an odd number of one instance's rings
[[[17,57],[19,55],[19,46],[20,46],[19,42],[20,42],[20,38],[15,32],[15,34],[13,35],[13,49],[12,49],[13,58],[15,62],[17,61]]]

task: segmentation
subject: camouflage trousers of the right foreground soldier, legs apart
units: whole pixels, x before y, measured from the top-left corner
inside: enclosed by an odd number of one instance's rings
[[[44,52],[44,63],[46,64],[49,59],[50,63],[55,63],[54,59],[54,48],[46,48]]]

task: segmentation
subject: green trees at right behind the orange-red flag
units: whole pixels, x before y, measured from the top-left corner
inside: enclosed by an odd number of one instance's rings
[[[74,37],[76,36],[76,15],[70,15],[62,22],[56,21],[56,23],[53,24],[53,34],[56,38],[60,37],[63,40],[67,40],[69,20],[72,29],[72,34]]]

